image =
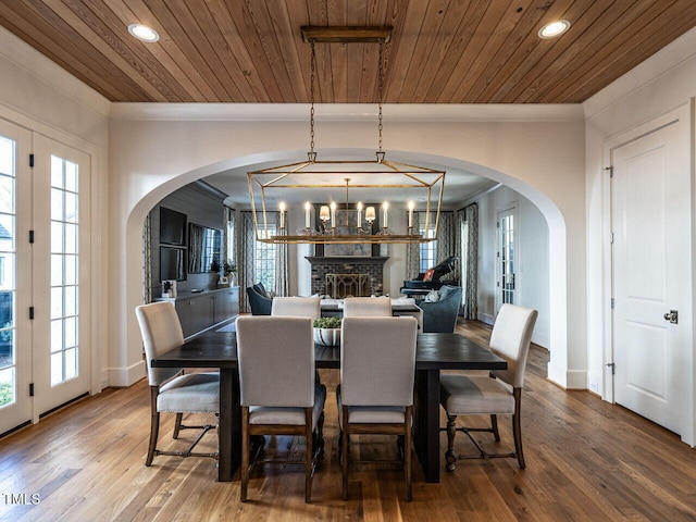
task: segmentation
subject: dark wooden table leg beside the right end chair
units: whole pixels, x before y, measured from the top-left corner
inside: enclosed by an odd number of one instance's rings
[[[439,482],[439,370],[415,372],[414,447],[426,482]]]

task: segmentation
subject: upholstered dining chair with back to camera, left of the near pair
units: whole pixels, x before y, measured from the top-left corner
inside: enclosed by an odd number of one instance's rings
[[[241,488],[247,501],[252,437],[294,435],[306,438],[304,501],[312,497],[312,476],[323,452],[326,387],[314,382],[312,320],[297,316],[240,316],[237,352],[241,402]],[[263,462],[269,462],[264,460]]]

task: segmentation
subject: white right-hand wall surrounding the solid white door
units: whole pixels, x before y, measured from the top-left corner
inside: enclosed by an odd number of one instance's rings
[[[692,102],[696,96],[695,50],[696,29],[692,29],[583,104],[587,144],[588,387],[608,400],[612,400],[612,380],[605,366],[611,361],[611,265],[608,238],[610,194],[607,175],[602,170],[608,166],[605,148],[616,137]],[[689,142],[694,147],[693,128],[689,133]],[[693,301],[694,288],[691,291]],[[696,442],[694,361],[696,353],[692,353],[688,361],[692,372],[688,394],[691,406],[685,411],[685,432],[681,433],[692,445]]]

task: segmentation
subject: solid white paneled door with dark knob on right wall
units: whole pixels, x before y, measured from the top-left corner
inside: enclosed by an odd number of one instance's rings
[[[688,123],[611,151],[616,402],[684,434],[692,339]]]

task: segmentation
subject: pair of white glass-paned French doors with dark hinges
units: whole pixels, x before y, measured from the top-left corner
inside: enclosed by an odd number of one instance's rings
[[[89,178],[88,154],[0,121],[0,433],[89,391]]]

